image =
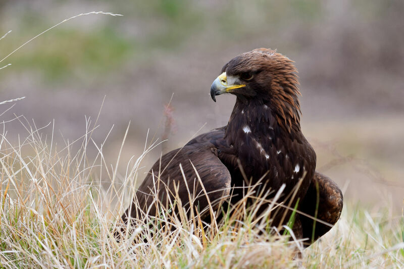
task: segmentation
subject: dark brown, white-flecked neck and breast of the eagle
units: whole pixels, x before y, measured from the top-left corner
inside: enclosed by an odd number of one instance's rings
[[[284,179],[297,182],[304,171],[312,177],[316,156],[300,131],[298,113],[298,106],[282,97],[237,98],[224,138],[246,173],[259,179],[269,171],[273,187]]]

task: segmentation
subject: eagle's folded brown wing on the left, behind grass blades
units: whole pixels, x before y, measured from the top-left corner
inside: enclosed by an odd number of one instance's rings
[[[128,217],[156,216],[158,203],[169,208],[176,197],[181,202],[174,209],[177,212],[189,211],[192,205],[204,218],[209,211],[203,209],[209,204],[216,210],[220,201],[229,195],[231,183],[230,172],[218,158],[219,148],[224,147],[216,142],[223,143],[221,135],[221,129],[213,130],[163,155],[136,191],[136,198],[122,216],[124,223]]]

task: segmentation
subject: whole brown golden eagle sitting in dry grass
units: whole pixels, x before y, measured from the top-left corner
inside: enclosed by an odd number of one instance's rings
[[[266,198],[272,198],[285,184],[283,197],[295,191],[286,204],[294,206],[299,201],[297,209],[310,216],[316,215],[317,207],[317,218],[331,224],[316,223],[314,239],[322,236],[339,219],[342,193],[329,178],[315,172],[316,153],[300,131],[300,92],[293,62],[266,48],[242,53],[223,67],[212,84],[214,100],[222,93],[237,96],[227,126],[199,135],[182,149],[162,156],[137,190],[137,202],[123,214],[124,223],[139,214],[155,216],[155,193],[167,203],[178,192],[181,206],[189,209],[190,192],[197,197],[193,208],[197,206],[203,219],[209,218],[204,211],[208,199],[215,210],[230,193],[230,203],[241,199],[244,173],[253,185],[262,179],[257,191],[272,190]],[[267,206],[262,205],[259,212]],[[284,224],[289,216],[290,210],[280,209],[272,224]],[[311,239],[313,225],[311,218],[297,214],[293,230],[298,238]]]

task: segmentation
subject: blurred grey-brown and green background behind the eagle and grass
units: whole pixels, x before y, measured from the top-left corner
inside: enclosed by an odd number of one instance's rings
[[[227,124],[235,98],[209,96],[212,81],[234,56],[277,48],[295,61],[302,93],[302,130],[315,147],[317,170],[345,199],[391,205],[404,193],[404,2],[369,1],[0,1],[1,121],[15,115],[54,142],[81,137],[100,111],[92,137],[125,173],[151,137],[168,139],[146,155],[144,172],[161,152]],[[103,104],[103,99],[105,101]],[[170,102],[170,105],[168,103]],[[100,107],[102,109],[100,110]],[[8,110],[8,111],[7,111]],[[15,114],[15,115],[14,115]],[[111,133],[110,129],[113,127]],[[10,140],[29,132],[6,123]],[[19,135],[19,136],[18,136]],[[95,151],[95,148],[94,148]]]

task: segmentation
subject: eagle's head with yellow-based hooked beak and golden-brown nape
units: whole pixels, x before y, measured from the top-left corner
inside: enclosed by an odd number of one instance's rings
[[[270,48],[241,53],[222,68],[212,83],[211,96],[231,93],[243,106],[266,105],[288,131],[299,128],[297,69],[286,56]]]

